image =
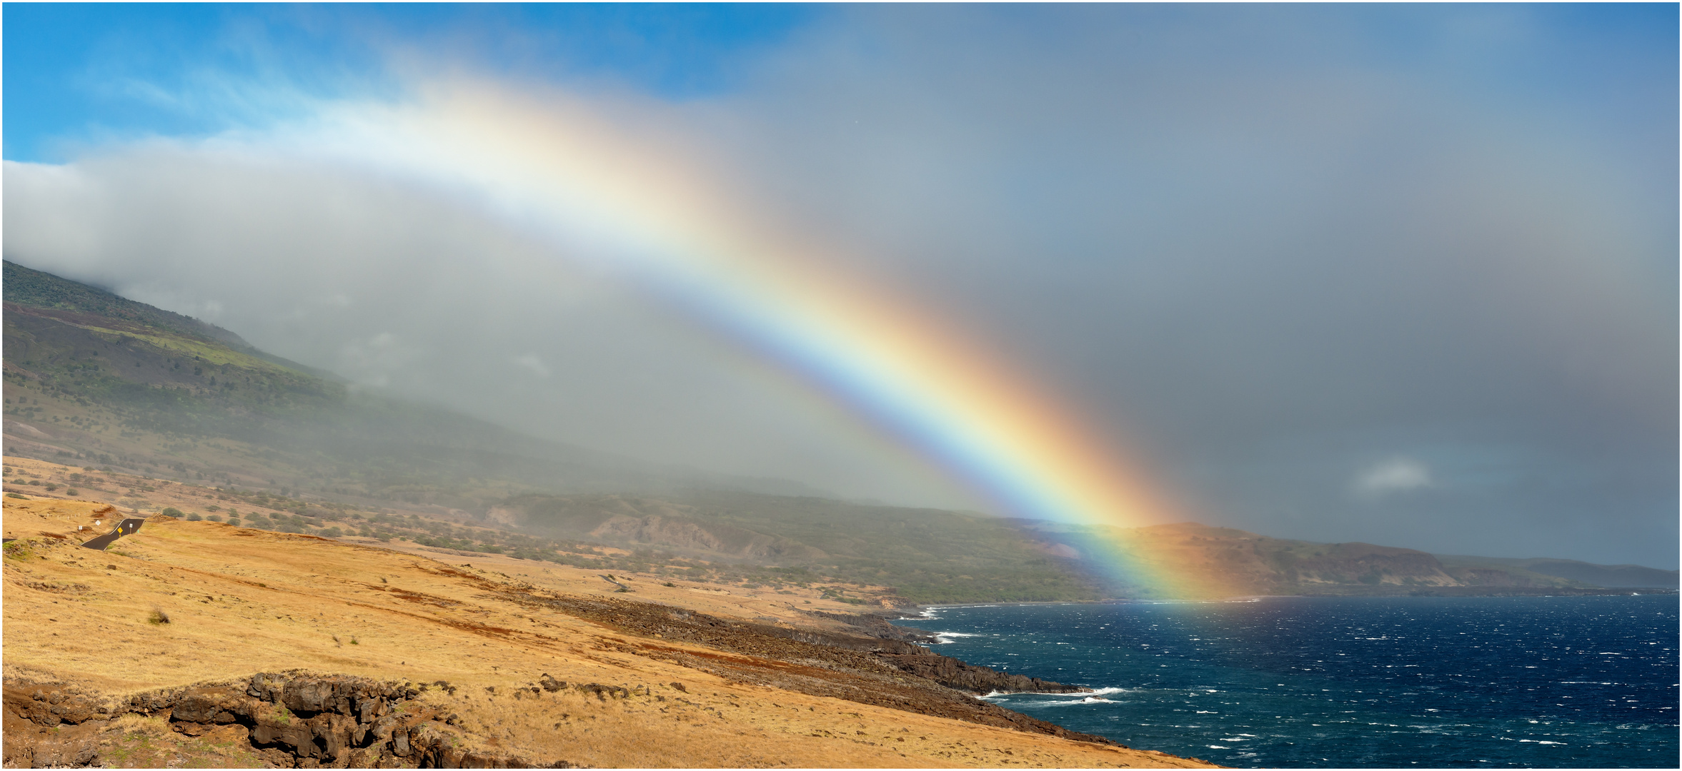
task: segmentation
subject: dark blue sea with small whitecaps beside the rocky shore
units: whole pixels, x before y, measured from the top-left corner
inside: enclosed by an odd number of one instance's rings
[[[1675,595],[937,608],[989,697],[1224,766],[1677,768]]]

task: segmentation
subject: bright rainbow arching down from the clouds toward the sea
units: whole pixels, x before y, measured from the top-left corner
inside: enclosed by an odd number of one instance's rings
[[[311,153],[447,190],[632,281],[1031,519],[1135,527],[1172,507],[1043,390],[814,249],[732,208],[659,138],[563,96],[476,81],[328,111]],[[1129,581],[1172,585],[1112,559]],[[1161,571],[1157,571],[1161,573]]]

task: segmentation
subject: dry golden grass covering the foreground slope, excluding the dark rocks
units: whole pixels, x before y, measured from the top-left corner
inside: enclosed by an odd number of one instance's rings
[[[415,553],[172,517],[151,517],[111,551],[82,549],[77,544],[93,531],[76,526],[109,524],[103,507],[5,499],[5,534],[20,539],[3,559],[8,682],[74,682],[123,697],[286,669],[446,680],[454,692],[434,687],[424,699],[454,712],[469,744],[589,766],[1198,766],[730,682],[602,645],[602,637],[626,637],[622,630],[506,600],[523,585],[616,590],[574,568],[495,556],[463,568],[469,559],[446,558],[447,564]],[[629,596],[641,601],[722,616],[799,618],[789,595],[691,591],[696,585],[688,581],[661,586],[653,576],[626,578],[636,590]],[[155,613],[168,623],[155,623]],[[624,685],[634,695],[533,694],[543,674]]]

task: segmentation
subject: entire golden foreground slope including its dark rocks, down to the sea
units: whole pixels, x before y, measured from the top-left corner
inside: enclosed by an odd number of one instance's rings
[[[99,553],[111,506],[13,496],[7,766],[1201,766],[972,699],[1014,675],[817,591],[170,516]]]

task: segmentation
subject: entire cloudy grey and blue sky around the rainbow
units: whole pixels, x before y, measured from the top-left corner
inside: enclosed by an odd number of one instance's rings
[[[1674,3],[3,20],[7,259],[358,381],[627,455],[981,506],[463,197],[299,161],[284,129],[466,71],[708,168],[1082,405],[1196,519],[1677,564]],[[449,302],[496,312],[427,311]]]

